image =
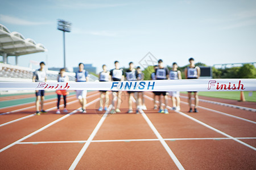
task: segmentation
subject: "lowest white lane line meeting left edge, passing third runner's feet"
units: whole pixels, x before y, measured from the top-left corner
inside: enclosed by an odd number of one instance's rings
[[[98,100],[99,100],[99,99],[97,98],[97,99],[91,101],[90,103],[86,104],[86,106],[88,106],[88,105],[90,105],[90,104],[93,104],[93,103],[96,103],[96,101],[98,101]],[[48,125],[43,126],[43,128],[40,128],[40,129],[34,131],[33,133],[26,135],[26,137],[23,137],[23,138],[19,139],[18,141],[15,141],[15,142],[11,143],[10,145],[8,145],[8,146],[2,148],[2,149],[0,150],[0,153],[1,153],[2,151],[7,150],[7,148],[10,148],[10,147],[16,145],[17,143],[22,142],[22,141],[24,141],[25,139],[32,137],[32,135],[35,135],[35,134],[39,133],[40,131],[43,131],[44,129],[49,128],[49,126],[52,126],[52,125],[56,124],[57,122],[59,122],[59,121],[61,121],[61,120],[64,120],[64,118],[67,118],[67,117],[71,116],[72,114],[76,113],[76,112],[79,111],[80,109],[81,109],[81,108],[78,108],[78,109],[76,109],[75,111],[73,111],[73,112],[71,112],[71,113],[68,113],[68,114],[66,114],[65,116],[60,117],[60,118],[58,118],[57,120],[55,120],[55,121],[49,123]]]

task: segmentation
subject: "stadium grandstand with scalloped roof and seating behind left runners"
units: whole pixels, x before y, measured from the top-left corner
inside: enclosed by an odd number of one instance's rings
[[[3,62],[0,63],[0,82],[32,82],[35,70],[31,67],[18,66],[18,57],[26,54],[47,52],[43,44],[36,44],[32,39],[25,39],[19,32],[10,32],[5,25],[0,24],[0,55]],[[8,64],[8,56],[15,56],[15,65]],[[38,66],[39,67],[39,66]],[[57,81],[59,71],[47,70],[47,80]],[[70,81],[75,81],[75,73],[66,73]],[[98,78],[89,74],[89,81]],[[7,92],[7,91],[6,91]]]

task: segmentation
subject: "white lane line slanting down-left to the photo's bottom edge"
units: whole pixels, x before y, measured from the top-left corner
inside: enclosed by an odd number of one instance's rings
[[[110,109],[108,109],[108,111],[110,111]],[[85,151],[87,150],[87,148],[89,147],[90,143],[93,141],[93,138],[95,137],[96,133],[98,132],[98,130],[100,129],[101,125],[103,124],[103,122],[105,121],[106,117],[108,117],[108,111],[106,111],[103,116],[101,117],[101,120],[98,122],[97,126],[95,127],[95,129],[93,130],[92,134],[90,134],[90,137],[88,138],[88,140],[85,142],[85,145],[82,147],[82,149],[80,150],[79,154],[76,156],[76,159],[74,160],[74,162],[72,163],[71,167],[69,167],[69,170],[71,169],[75,169],[77,164],[79,163],[79,161],[82,158],[82,155],[84,155]]]

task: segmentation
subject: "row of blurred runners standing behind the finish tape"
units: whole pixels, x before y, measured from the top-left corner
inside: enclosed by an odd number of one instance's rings
[[[141,68],[135,67],[133,62],[129,63],[129,69],[122,69],[119,67],[119,62],[114,62],[114,69],[108,71],[106,65],[102,65],[102,71],[99,74],[100,82],[108,81],[135,81],[143,80],[144,74],[142,73]],[[40,62],[40,69],[36,70],[33,74],[33,82],[46,82],[47,74],[44,69],[45,63]],[[164,67],[162,59],[158,60],[158,65],[154,66],[154,72],[151,74],[152,80],[164,80],[164,79],[181,79],[181,71],[178,70],[178,65],[176,62],[172,63],[172,69],[168,70],[167,67]],[[189,66],[184,70],[186,79],[197,79],[200,76],[200,68],[195,66],[195,60],[189,58]],[[76,82],[88,82],[88,71],[84,70],[84,64],[79,63],[79,71],[76,72]],[[65,74],[65,69],[60,69],[60,73],[57,77],[58,82],[68,82],[68,75]],[[159,113],[168,114],[168,96],[171,96],[173,107],[171,110],[180,111],[180,95],[179,92],[164,92],[164,91],[154,91],[154,109],[159,109]],[[193,92],[195,97],[195,107],[192,108],[192,92],[188,92],[188,103],[189,103],[189,112],[198,112],[197,106],[199,104],[197,92]],[[57,90],[57,114],[60,114],[60,99],[61,95],[64,100],[64,109],[63,112],[68,112],[67,110],[67,95],[69,94],[66,90]],[[86,90],[76,90],[76,97],[79,100],[81,105],[81,112],[86,113]],[[128,105],[129,109],[127,113],[133,113],[133,103],[136,105],[135,112],[139,113],[139,109],[146,110],[146,105],[144,103],[144,92],[143,91],[127,91],[128,94]],[[122,91],[112,91],[112,102],[110,103],[110,91],[100,91],[100,107],[98,111],[109,111],[110,113],[119,113],[120,106],[122,102]],[[158,98],[158,99],[157,99]],[[105,102],[104,102],[105,100]],[[41,102],[40,102],[41,101]],[[39,109],[41,103],[41,110]],[[44,113],[43,109],[44,103],[44,91],[36,91],[36,114]],[[159,103],[159,105],[158,105]]]

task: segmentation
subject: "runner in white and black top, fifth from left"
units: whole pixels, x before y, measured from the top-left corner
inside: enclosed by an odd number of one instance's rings
[[[115,61],[115,69],[110,70],[110,76],[112,78],[112,81],[123,81],[124,77],[124,71],[123,69],[119,68],[119,62]],[[118,94],[117,94],[118,92]],[[121,96],[122,96],[122,91],[112,91],[112,110],[110,113],[119,113],[121,112],[119,107],[121,105]],[[117,100],[117,109],[115,109],[115,100]]]

